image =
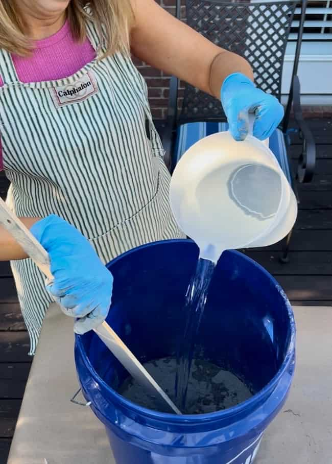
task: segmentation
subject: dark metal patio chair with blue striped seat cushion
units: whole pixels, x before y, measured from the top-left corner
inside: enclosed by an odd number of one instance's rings
[[[300,13],[298,37],[291,87],[284,119],[270,137],[270,149],[297,196],[296,181],[310,182],[315,168],[316,150],[313,135],[303,120],[300,105],[300,83],[297,76],[306,0],[282,2],[248,2],[238,0],[186,0],[186,22],[221,47],[238,53],[251,64],[255,83],[281,99],[281,77],[284,55],[295,13]],[[181,0],[176,2],[176,16],[181,16]],[[165,162],[172,171],[183,153],[205,135],[228,129],[220,101],[186,84],[178,110],[179,80],[171,78],[168,116],[163,132]],[[291,144],[289,123],[291,108],[302,138],[297,173],[293,175],[288,150]],[[294,129],[293,129],[294,130]],[[289,259],[292,233],[284,240],[281,261]]]

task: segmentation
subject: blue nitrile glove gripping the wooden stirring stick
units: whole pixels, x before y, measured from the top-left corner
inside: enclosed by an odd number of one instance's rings
[[[41,219],[31,232],[49,253],[52,282],[46,289],[65,314],[79,318],[74,331],[84,334],[101,324],[111,304],[113,276],[88,240],[58,216]]]

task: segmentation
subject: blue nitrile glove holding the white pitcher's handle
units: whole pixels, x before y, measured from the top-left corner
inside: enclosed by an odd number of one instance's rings
[[[283,118],[283,107],[272,95],[257,88],[244,74],[227,76],[221,87],[221,103],[235,140],[248,135],[248,113],[255,114],[253,135],[259,140],[270,137]]]

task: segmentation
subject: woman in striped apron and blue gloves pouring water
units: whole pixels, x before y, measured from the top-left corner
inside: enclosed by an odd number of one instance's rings
[[[8,204],[50,254],[43,276],[4,229],[34,353],[53,299],[84,333],[106,317],[102,263],[140,244],[182,237],[147,88],[130,59],[220,98],[236,140],[267,138],[282,107],[257,89],[238,55],[212,44],[154,0],[0,0],[0,115]],[[149,130],[146,130],[148,123]],[[23,261],[21,261],[23,260]]]

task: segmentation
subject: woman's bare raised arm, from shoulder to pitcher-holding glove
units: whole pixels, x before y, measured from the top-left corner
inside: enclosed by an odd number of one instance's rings
[[[242,73],[253,80],[244,58],[210,42],[154,0],[133,0],[132,4],[131,50],[137,58],[217,98],[230,74]]]

